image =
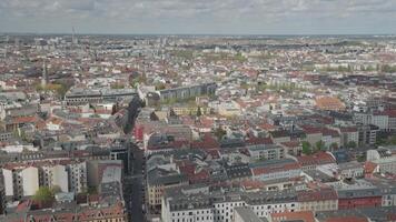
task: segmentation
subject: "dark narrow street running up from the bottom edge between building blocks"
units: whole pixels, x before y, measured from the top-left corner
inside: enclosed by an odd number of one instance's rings
[[[129,221],[142,222],[145,215],[141,209],[142,205],[142,163],[143,152],[135,144],[132,149],[132,174],[125,179],[125,200],[127,204]],[[128,201],[127,201],[128,200]]]

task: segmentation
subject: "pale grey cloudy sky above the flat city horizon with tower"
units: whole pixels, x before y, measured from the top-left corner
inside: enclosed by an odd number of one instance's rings
[[[0,0],[0,32],[395,34],[396,0]]]

